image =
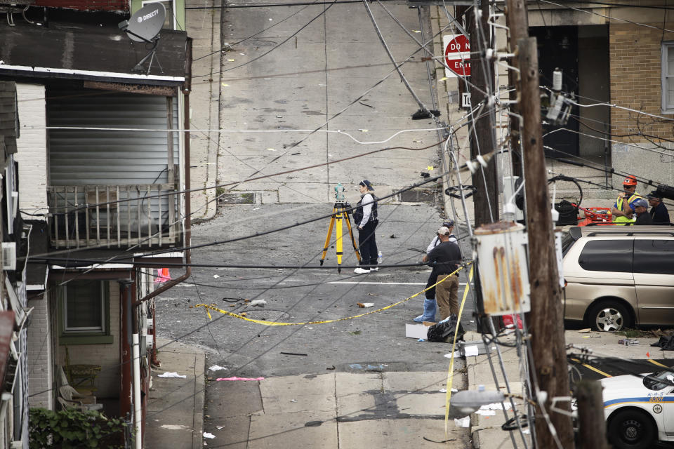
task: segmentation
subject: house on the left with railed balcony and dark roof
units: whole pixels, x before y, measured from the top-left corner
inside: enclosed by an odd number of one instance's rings
[[[159,3],[169,13],[147,38],[156,44],[148,53],[148,42],[118,24],[141,6],[164,9]],[[159,284],[155,273],[183,262],[173,249],[189,241],[189,142],[171,131],[188,128],[183,5],[41,0],[26,20],[0,23],[0,83],[15,86],[20,123],[18,192],[9,198],[29,229],[17,287],[32,311],[21,340],[27,375],[15,391],[26,406],[124,417],[137,447],[152,298],[185,277]],[[1,337],[0,326],[0,354]],[[93,393],[94,403],[68,396],[68,384]]]

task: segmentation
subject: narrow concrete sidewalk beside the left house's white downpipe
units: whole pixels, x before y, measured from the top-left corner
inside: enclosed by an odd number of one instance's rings
[[[145,416],[144,448],[202,448],[204,433],[204,351],[157,338],[161,368],[152,370]],[[158,377],[178,373],[186,378]]]

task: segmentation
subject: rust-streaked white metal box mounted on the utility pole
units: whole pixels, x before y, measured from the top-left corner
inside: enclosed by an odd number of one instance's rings
[[[484,313],[499,316],[531,309],[524,226],[498,222],[475,229],[473,256],[480,271]]]

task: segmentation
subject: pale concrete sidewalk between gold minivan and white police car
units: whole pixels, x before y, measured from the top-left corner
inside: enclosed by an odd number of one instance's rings
[[[564,339],[567,344],[577,344],[579,347],[586,347],[597,356],[620,356],[631,359],[674,358],[674,351],[662,351],[658,347],[650,346],[650,344],[658,341],[657,338],[639,337],[639,344],[635,346],[619,344],[618,340],[623,338],[625,338],[623,335],[607,332],[579,333],[578,330],[567,330],[564,332]],[[471,341],[482,342],[482,337],[478,333],[469,332],[465,334],[465,341],[467,343]],[[511,340],[504,338],[503,341],[510,342]],[[501,391],[505,391],[505,377],[507,377],[510,392],[521,394],[523,387],[521,380],[524,377],[522,376],[522,366],[520,366],[520,358],[517,355],[516,349],[513,347],[499,347],[498,349],[501,351],[503,368],[505,369],[501,368],[496,351],[491,351],[491,361],[494,363],[497,382],[494,382],[494,375],[492,374],[487,355],[466,358],[468,389],[478,389],[480,385],[484,385],[484,389],[487,390],[501,389]],[[649,353],[650,357],[647,357],[646,353]],[[503,373],[505,373],[505,377]],[[520,410],[521,401],[520,403],[515,403],[515,406]],[[512,410],[508,410],[508,417],[513,417]],[[528,431],[525,431],[523,434],[513,431],[511,436],[510,432],[501,430],[503,422],[505,422],[505,417],[498,410],[496,416],[471,415],[470,433],[473,436],[473,448],[512,448],[513,439],[516,447],[523,448],[524,443],[522,443],[522,438],[527,438],[527,445],[531,447],[531,436]]]

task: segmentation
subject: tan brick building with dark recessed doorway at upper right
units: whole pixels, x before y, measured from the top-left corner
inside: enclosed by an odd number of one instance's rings
[[[543,124],[546,153],[553,156],[548,165],[564,173],[571,168],[554,158],[577,158],[674,185],[674,7],[617,0],[529,2],[527,8],[541,86],[551,87],[560,68],[562,90],[581,105],[571,107],[564,125]],[[498,32],[496,47],[506,45],[505,32]],[[591,197],[612,199],[621,186],[622,175],[573,170],[569,174],[604,186],[583,187]]]

